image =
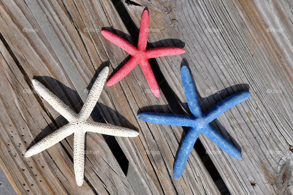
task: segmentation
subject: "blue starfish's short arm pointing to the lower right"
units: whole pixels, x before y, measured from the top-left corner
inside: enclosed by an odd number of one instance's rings
[[[218,145],[223,151],[230,156],[240,159],[242,157],[241,152],[226,138],[224,138],[218,131],[216,131],[211,125],[204,128],[202,133],[205,134],[210,140]]]

